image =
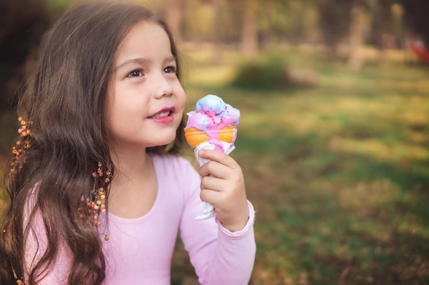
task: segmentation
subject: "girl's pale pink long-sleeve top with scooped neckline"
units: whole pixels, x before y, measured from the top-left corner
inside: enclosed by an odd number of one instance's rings
[[[239,232],[230,232],[216,219],[196,221],[202,211],[200,177],[191,163],[181,157],[154,155],[158,193],[149,213],[136,219],[101,215],[100,232],[106,256],[103,285],[170,284],[170,268],[177,233],[203,285],[248,284],[256,253],[254,208],[249,205],[249,221]],[[31,200],[31,199],[30,199]],[[37,219],[36,219],[37,221]],[[26,242],[27,269],[45,249],[43,229],[34,226]],[[38,236],[36,241],[35,236]],[[37,247],[37,243],[39,248]],[[40,285],[66,284],[70,259],[66,245]]]

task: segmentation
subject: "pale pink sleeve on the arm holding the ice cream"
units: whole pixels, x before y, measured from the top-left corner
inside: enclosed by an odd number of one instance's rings
[[[188,197],[180,223],[180,236],[202,285],[248,284],[254,267],[254,208],[250,202],[249,220],[243,230],[230,232],[217,219],[197,221],[202,211],[199,174],[189,164],[184,185]]]

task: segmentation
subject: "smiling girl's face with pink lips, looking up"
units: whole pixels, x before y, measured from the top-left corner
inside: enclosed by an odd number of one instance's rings
[[[186,100],[176,68],[169,37],[160,25],[141,21],[127,33],[108,87],[114,147],[147,148],[175,139]]]

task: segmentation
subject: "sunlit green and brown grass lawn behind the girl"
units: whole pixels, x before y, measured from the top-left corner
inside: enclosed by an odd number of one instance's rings
[[[286,51],[319,85],[252,91],[228,85],[236,52],[188,51],[187,110],[205,94],[241,109],[231,155],[257,211],[251,285],[429,284],[428,66],[395,54],[354,72]],[[193,281],[178,242],[172,284]]]

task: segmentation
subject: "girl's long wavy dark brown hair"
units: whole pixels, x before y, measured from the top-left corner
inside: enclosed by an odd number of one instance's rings
[[[167,25],[138,5],[77,5],[43,38],[36,75],[19,101],[20,115],[33,122],[31,147],[21,158],[25,159],[22,169],[9,174],[5,183],[10,206],[0,233],[0,284],[16,284],[14,273],[19,278],[27,276],[25,283],[29,285],[37,284],[54,264],[61,240],[71,252],[68,284],[103,282],[106,264],[99,234],[95,226],[79,218],[77,208],[79,198],[93,187],[91,174],[97,162],[113,173],[115,170],[104,111],[106,89],[114,54],[139,21],[158,23],[166,31],[179,66]],[[177,76],[179,72],[177,68]],[[180,152],[183,126],[182,120],[172,144],[147,151]],[[23,208],[33,192],[37,194],[35,205],[26,213]],[[45,226],[47,250],[31,271],[24,273],[25,239],[35,213]],[[28,223],[24,224],[27,215]]]

